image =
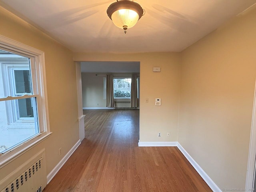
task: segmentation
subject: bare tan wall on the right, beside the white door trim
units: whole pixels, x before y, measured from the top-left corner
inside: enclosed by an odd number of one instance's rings
[[[256,11],[182,52],[178,141],[222,188],[245,188],[256,78]]]

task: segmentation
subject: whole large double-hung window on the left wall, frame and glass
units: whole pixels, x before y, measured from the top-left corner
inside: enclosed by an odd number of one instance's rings
[[[44,53],[0,36],[0,166],[50,136],[44,82]]]

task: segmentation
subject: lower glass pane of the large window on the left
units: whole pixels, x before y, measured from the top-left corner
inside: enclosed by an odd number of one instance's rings
[[[32,136],[39,133],[35,102],[36,98],[9,100],[0,102],[0,153],[10,150],[12,147],[28,140]],[[32,112],[30,118],[18,119],[20,114],[28,116],[27,106],[29,104],[29,112]],[[32,105],[34,104],[34,107]],[[24,106],[22,106],[24,105]],[[13,107],[18,106],[18,107]],[[20,108],[20,106],[25,107]],[[10,122],[10,119],[14,121]]]

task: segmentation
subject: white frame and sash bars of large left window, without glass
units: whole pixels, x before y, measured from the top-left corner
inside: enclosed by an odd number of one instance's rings
[[[36,144],[42,142],[51,135],[48,117],[48,102],[46,92],[46,74],[44,63],[44,52],[26,46],[9,38],[0,35],[0,50],[12,52],[27,58],[30,58],[30,72],[33,84],[36,84],[36,102],[37,102],[37,119],[39,126],[39,133],[29,138],[26,142],[11,148],[5,153],[0,154],[0,168],[12,162],[24,152],[34,147]],[[0,98],[0,101],[32,98],[34,95],[25,94],[24,96],[16,96],[9,98]]]

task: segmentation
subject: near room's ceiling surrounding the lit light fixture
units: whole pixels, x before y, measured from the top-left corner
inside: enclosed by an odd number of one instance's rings
[[[179,52],[256,0],[135,0],[146,14],[124,31],[106,14],[116,0],[0,0],[74,52]]]

